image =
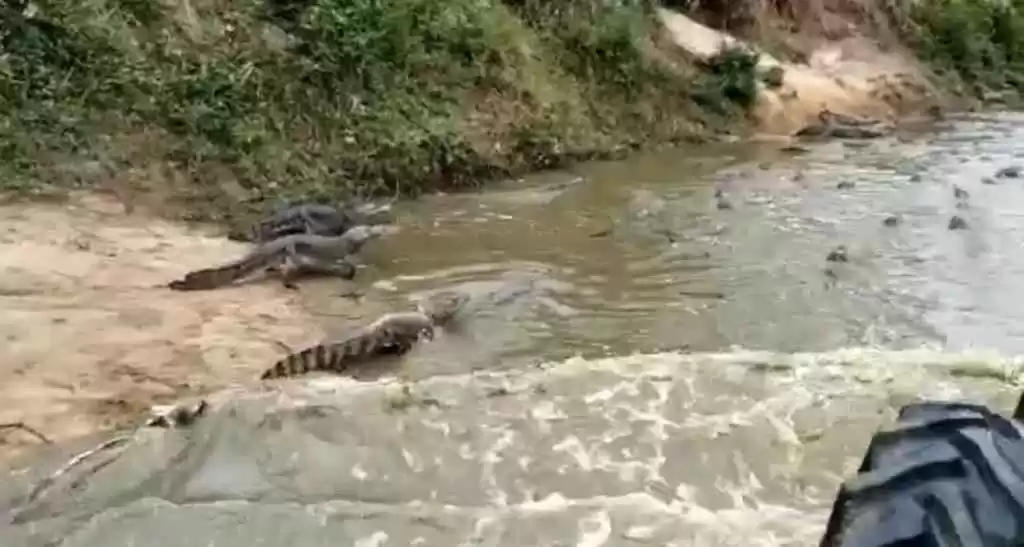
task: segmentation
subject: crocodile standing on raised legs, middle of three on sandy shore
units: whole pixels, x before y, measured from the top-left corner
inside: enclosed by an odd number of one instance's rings
[[[388,226],[384,225],[358,225],[341,236],[284,236],[259,244],[249,254],[228,264],[190,271],[170,282],[168,287],[175,291],[204,291],[268,271],[274,271],[289,289],[295,289],[294,280],[303,275],[350,280],[355,277],[355,266],[346,258],[370,240],[388,232]]]

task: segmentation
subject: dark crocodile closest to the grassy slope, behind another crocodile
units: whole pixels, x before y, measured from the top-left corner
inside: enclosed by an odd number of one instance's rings
[[[387,224],[393,220],[391,205],[359,204],[335,207],[326,203],[288,204],[244,230],[231,232],[227,239],[265,243],[293,234],[341,236],[360,224]]]

